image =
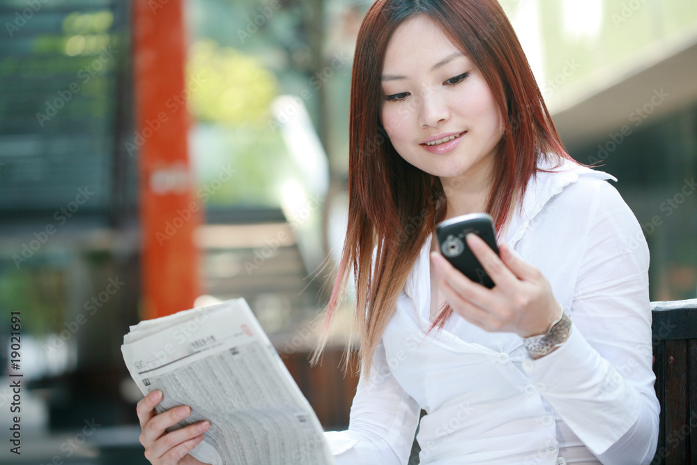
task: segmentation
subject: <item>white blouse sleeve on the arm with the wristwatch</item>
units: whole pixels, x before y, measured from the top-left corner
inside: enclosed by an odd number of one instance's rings
[[[523,369],[604,464],[648,464],[658,437],[648,247],[636,218],[598,183],[570,309],[572,332]]]

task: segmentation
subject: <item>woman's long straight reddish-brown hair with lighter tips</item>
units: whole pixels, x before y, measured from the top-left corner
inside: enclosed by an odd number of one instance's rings
[[[494,162],[487,211],[500,231],[522,199],[546,153],[566,153],[544,105],[516,34],[497,0],[377,0],[358,32],[351,76],[348,151],[348,231],[325,313],[328,327],[353,273],[355,323],[361,369],[372,356],[419,252],[445,217],[445,192],[437,176],[406,162],[390,143],[380,119],[384,99],[379,76],[397,26],[425,15],[481,70],[496,100],[504,131]],[[445,307],[434,327],[452,314]],[[326,330],[324,336],[326,335]],[[319,358],[326,339],[313,356]],[[346,360],[348,364],[348,360]]]

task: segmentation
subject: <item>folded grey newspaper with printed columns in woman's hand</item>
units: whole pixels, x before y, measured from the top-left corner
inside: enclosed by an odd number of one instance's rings
[[[190,453],[213,465],[334,464],[323,428],[243,298],[141,321],[121,346],[158,413],[192,413],[173,429],[210,420]]]

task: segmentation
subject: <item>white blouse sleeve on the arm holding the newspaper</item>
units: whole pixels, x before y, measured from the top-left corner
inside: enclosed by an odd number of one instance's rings
[[[390,372],[383,343],[376,347],[371,376],[358,381],[348,430],[325,432],[337,465],[406,464],[411,452],[418,404]]]

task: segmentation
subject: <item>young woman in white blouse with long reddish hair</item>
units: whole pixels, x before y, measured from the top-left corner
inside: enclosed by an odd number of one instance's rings
[[[657,445],[648,248],[613,176],[560,143],[496,0],[378,0],[351,84],[348,234],[361,378],[337,464],[647,464]],[[616,180],[615,180],[616,181]],[[491,214],[487,289],[436,223]],[[196,425],[138,407],[146,456],[191,462]],[[205,426],[204,426],[205,427]],[[174,436],[177,435],[177,436]]]

